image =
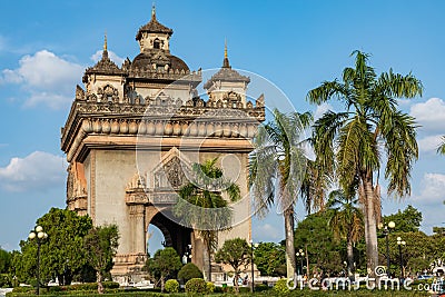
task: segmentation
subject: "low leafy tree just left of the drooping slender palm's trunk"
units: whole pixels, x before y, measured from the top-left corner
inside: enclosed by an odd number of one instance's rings
[[[285,247],[276,242],[259,242],[255,248],[255,265],[261,275],[285,276],[286,251]]]

